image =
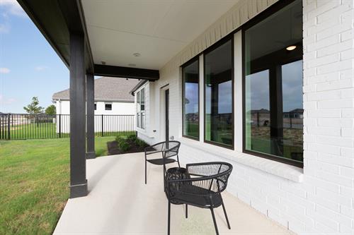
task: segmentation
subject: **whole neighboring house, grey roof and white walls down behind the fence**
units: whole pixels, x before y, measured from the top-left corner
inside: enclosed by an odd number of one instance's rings
[[[111,77],[95,79],[94,128],[96,133],[134,130],[135,117],[131,115],[135,115],[135,104],[130,90],[138,83],[137,79]],[[52,100],[57,107],[57,133],[69,133],[69,89],[56,92]]]

